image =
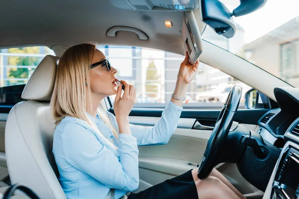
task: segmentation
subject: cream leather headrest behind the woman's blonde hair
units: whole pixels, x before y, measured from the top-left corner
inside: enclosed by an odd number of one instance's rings
[[[59,57],[47,55],[28,80],[21,98],[47,101],[52,97]]]

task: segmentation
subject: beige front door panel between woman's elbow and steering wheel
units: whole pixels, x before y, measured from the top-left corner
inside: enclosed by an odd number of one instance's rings
[[[148,116],[129,118],[130,123],[146,126],[153,126],[158,119]],[[212,131],[191,129],[195,121],[195,118],[180,118],[177,129],[165,145],[139,146],[140,187],[135,193],[199,166]],[[255,124],[242,125],[251,130],[257,128]],[[263,197],[263,192],[242,177],[236,164],[219,164],[216,168],[249,199]]]

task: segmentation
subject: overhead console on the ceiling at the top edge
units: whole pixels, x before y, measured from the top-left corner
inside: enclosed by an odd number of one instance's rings
[[[132,10],[194,10],[198,9],[198,0],[108,0],[120,9]]]

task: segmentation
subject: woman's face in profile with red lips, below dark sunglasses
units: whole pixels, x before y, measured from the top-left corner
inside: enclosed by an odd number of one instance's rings
[[[105,55],[101,51],[96,50],[92,63],[94,64],[104,59],[106,59]],[[103,64],[92,68],[90,70],[91,93],[102,97],[115,95],[117,91],[116,72],[117,70],[113,67],[111,67],[111,71],[108,71],[106,67],[103,67]]]

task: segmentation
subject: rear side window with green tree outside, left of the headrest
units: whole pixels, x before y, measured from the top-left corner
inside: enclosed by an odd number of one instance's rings
[[[22,100],[21,94],[29,77],[49,54],[55,55],[44,46],[0,49],[0,106],[7,107],[9,111],[11,106]]]

